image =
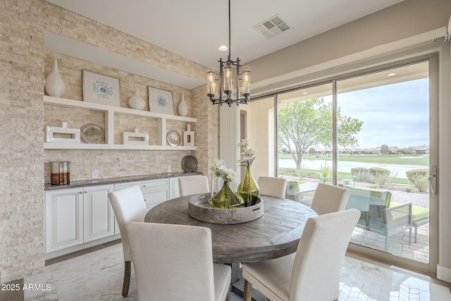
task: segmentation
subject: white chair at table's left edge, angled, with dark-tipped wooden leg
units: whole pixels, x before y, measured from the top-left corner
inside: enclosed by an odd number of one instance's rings
[[[124,253],[124,282],[122,286],[122,295],[127,297],[130,287],[130,275],[132,269],[132,254],[128,240],[125,225],[132,221],[144,221],[147,213],[146,203],[138,185],[132,185],[128,188],[116,190],[109,193],[111,206],[113,207],[119,231],[121,231],[122,249]]]

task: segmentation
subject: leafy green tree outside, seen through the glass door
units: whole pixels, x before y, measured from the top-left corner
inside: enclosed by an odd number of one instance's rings
[[[286,147],[301,168],[302,156],[309,147],[332,147],[332,104],[325,104],[323,97],[290,102],[279,111],[278,136],[280,146]],[[342,116],[337,110],[338,145],[354,147],[357,133],[363,122],[357,118]]]

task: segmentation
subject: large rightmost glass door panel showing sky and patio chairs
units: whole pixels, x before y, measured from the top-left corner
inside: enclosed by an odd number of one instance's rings
[[[336,81],[336,175],[350,190],[347,208],[362,211],[351,242],[429,262],[429,62]],[[412,228],[411,225],[414,225]]]

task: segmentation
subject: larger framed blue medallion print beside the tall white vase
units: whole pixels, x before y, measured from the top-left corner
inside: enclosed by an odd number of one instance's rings
[[[83,102],[121,106],[121,87],[118,78],[82,70]]]

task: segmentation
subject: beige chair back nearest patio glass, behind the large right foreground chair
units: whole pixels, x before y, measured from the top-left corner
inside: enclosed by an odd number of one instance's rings
[[[318,215],[342,211],[349,197],[350,190],[346,188],[319,183],[311,201],[311,209]]]

